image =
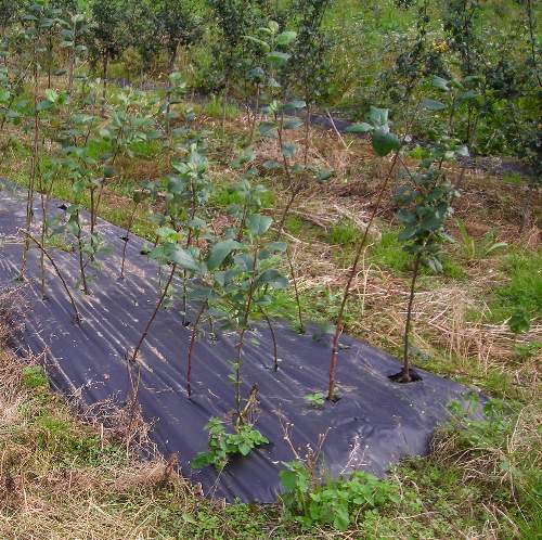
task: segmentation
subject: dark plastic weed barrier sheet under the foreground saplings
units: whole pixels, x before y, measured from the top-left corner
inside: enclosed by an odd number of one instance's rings
[[[39,200],[36,221],[39,221]],[[59,204],[51,204],[56,208]],[[0,192],[0,286],[14,286],[21,265],[25,196],[4,182]],[[60,211],[60,210],[59,210]],[[90,283],[92,296],[76,292],[83,323],[74,313],[62,284],[47,265],[47,300],[39,296],[39,252],[28,255],[29,278],[25,297],[29,306],[25,327],[17,338],[18,352],[46,350],[47,369],[55,389],[80,396],[87,404],[114,399],[122,403],[129,388],[125,353],[134,346],[157,301],[157,267],[140,254],[143,240],[128,242],[126,279],[118,280],[125,231],[105,221],[99,229],[113,253]],[[77,255],[51,249],[51,255],[76,291]],[[179,284],[177,284],[179,286]],[[168,457],[177,453],[182,474],[201,483],[204,492],[232,501],[274,502],[280,491],[279,471],[294,457],[284,440],[291,438],[305,453],[319,434],[327,432],[323,464],[337,476],[353,468],[383,475],[406,455],[426,454],[437,424],[447,419],[447,404],[468,391],[451,381],[420,370],[423,381],[397,384],[388,376],[400,370],[389,355],[348,336],[341,338],[337,365],[340,399],[322,409],[305,400],[309,393],[324,391],[331,346],[308,332],[299,335],[278,324],[278,372],[272,370],[273,346],[267,327],[249,332],[244,349],[243,395],[259,387],[256,427],[270,440],[247,458],[234,458],[218,474],[212,467],[193,471],[190,460],[207,449],[204,425],[210,416],[228,417],[234,407],[234,390],[228,382],[235,358],[235,336],[201,339],[193,357],[192,399],[185,391],[190,327],[183,326],[175,308],[162,309],[141,350],[140,403],[152,424],[151,437]]]

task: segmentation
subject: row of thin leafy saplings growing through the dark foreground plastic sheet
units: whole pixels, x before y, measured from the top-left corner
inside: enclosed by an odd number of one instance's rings
[[[333,173],[308,162],[308,131],[299,145],[291,136],[292,130],[302,124],[298,117],[306,104],[300,100],[286,99],[278,81],[288,63],[287,50],[296,35],[280,31],[279,25],[270,22],[268,27],[260,29],[261,35],[250,37],[266,52],[266,63],[255,66],[253,74],[255,92],[260,102],[267,105],[259,108],[251,118],[246,133],[247,146],[240,151],[232,163],[232,168],[237,169],[241,180],[229,188],[231,204],[228,207],[228,226],[217,230],[210,204],[216,187],[209,180],[206,158],[208,133],[194,128],[194,114],[190,108],[178,106],[185,92],[180,74],[172,73],[168,86],[159,92],[119,91],[106,99],[99,81],[91,81],[76,74],[85,50],[76,46],[74,37],[72,44],[65,46],[69,50],[67,88],[64,87],[62,91],[48,88],[43,91],[40,87],[40,74],[47,52],[43,48],[48,39],[47,21],[40,18],[39,10],[33,16],[24,29],[25,48],[18,51],[28,63],[5,62],[0,76],[2,132],[9,134],[9,126],[20,127],[31,140],[26,223],[21,230],[24,237],[21,278],[25,278],[27,253],[35,245],[40,253],[40,288],[43,299],[47,296],[48,260],[69,298],[76,323],[83,324],[78,309],[78,303],[82,298],[72,292],[50,247],[61,244],[74,250],[80,275],[77,287],[85,295],[92,294],[93,272],[90,270],[100,270],[100,260],[108,250],[98,227],[98,216],[107,184],[127,180],[122,167],[126,162],[122,158],[141,156],[142,147],[152,149],[153,158],[168,163],[170,173],[159,180],[143,182],[133,191],[124,236],[120,279],[125,277],[126,246],[136,219],[143,206],[154,208],[150,219],[156,228],[146,256],[157,262],[158,299],[152,316],[141,329],[139,342],[133,349],[127,351],[131,387],[129,407],[133,417],[139,402],[138,357],[145,338],[152,332],[156,314],[171,296],[180,300],[180,324],[190,322],[191,327],[185,375],[189,399],[192,395],[193,351],[203,329],[220,326],[234,331],[236,357],[232,361],[230,375],[234,387],[233,428],[227,429],[220,419],[210,419],[206,425],[209,449],[192,461],[194,467],[212,464],[221,470],[232,454],[247,455],[255,447],[268,442],[250,421],[250,410],[257,399],[256,391],[251,390],[246,397],[242,391],[246,334],[256,321],[264,321],[274,340],[273,322],[268,310],[273,305],[275,292],[287,287],[289,283],[293,284],[298,308],[298,329],[304,332],[296,273],[288,245],[283,240],[283,229],[297,195],[311,182],[324,182]],[[69,24],[72,36],[76,36],[82,20],[76,16]],[[66,28],[69,24],[66,23]],[[68,31],[66,36],[67,34]],[[24,69],[22,65],[25,65]],[[428,81],[427,92],[433,97],[440,93],[441,101],[426,99],[416,103],[412,119],[420,116],[422,111],[424,114],[436,113],[439,117],[446,117],[449,126],[462,104],[462,95],[468,94],[459,81],[450,82],[438,77]],[[350,128],[352,132],[370,133],[375,153],[383,159],[386,157],[387,173],[382,180],[372,214],[358,242],[345,284],[335,321],[327,393],[311,395],[309,401],[312,404],[323,406],[325,398],[330,402],[336,398],[335,371],[339,338],[352,280],[358,273],[358,265],[366,248],[375,216],[399,170],[402,185],[395,191],[398,218],[403,226],[400,239],[404,242],[404,248],[413,256],[413,270],[404,333],[403,369],[392,378],[403,383],[417,378],[409,362],[409,326],[415,282],[422,265],[427,263],[435,271],[441,269],[440,248],[444,241],[451,240],[444,232],[444,222],[452,211],[451,202],[456,195],[444,176],[442,164],[459,153],[464,154],[466,150],[459,141],[447,137],[447,126],[443,125],[443,134],[428,149],[427,157],[417,170],[410,170],[401,157],[409,124],[402,128],[401,137],[393,133],[391,127],[387,111],[372,107],[367,121]],[[266,190],[258,183],[261,167],[257,166],[251,149],[256,138],[258,142],[268,139],[268,144],[278,145],[280,158],[268,160],[262,167],[268,173],[276,171],[286,181],[287,203],[281,210],[275,227],[273,219],[262,210]],[[62,205],[61,213],[51,211],[51,196],[55,187],[65,183],[66,179],[69,181],[72,202]],[[39,233],[33,227],[34,203],[37,198],[43,215]],[[88,215],[83,210],[88,210]],[[288,277],[279,269],[283,259],[288,262]],[[177,283],[180,285],[177,286]],[[191,321],[188,321],[189,306],[194,309]],[[275,371],[279,369],[276,349],[274,343]],[[305,485],[304,474],[312,478],[317,474],[314,470],[301,468],[289,464],[287,471],[283,472],[285,488],[291,494]],[[369,478],[361,473],[352,477],[350,481],[353,491],[359,481],[369,483]],[[301,501],[301,494],[298,492],[292,500],[298,512],[307,503]],[[384,499],[386,498],[387,496]],[[340,526],[344,525],[343,519]]]

